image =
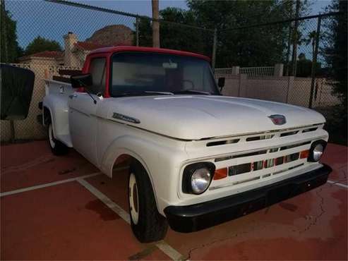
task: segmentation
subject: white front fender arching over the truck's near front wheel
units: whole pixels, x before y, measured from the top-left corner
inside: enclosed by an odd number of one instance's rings
[[[122,154],[137,159],[150,177],[158,210],[163,214],[168,202],[177,200],[179,169],[181,162],[187,158],[183,143],[179,145],[169,138],[159,136],[153,138],[147,135],[123,135],[107,147],[100,169],[112,177],[114,162]]]

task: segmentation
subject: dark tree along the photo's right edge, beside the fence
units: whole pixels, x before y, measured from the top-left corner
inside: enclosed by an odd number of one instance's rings
[[[323,20],[321,40],[324,47],[321,53],[328,65],[327,77],[331,80],[332,94],[342,101],[342,104],[328,108],[325,126],[331,142],[347,145],[347,1],[333,0],[325,11],[340,11],[339,15]]]

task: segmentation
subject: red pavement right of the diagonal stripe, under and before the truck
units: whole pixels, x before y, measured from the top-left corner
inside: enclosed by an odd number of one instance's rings
[[[128,209],[127,171],[87,181]],[[347,260],[347,189],[308,193],[195,233],[169,229],[164,239],[190,260]]]

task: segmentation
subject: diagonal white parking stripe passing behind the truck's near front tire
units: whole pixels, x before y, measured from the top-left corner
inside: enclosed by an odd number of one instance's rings
[[[101,200],[107,207],[109,207],[112,211],[114,211],[116,214],[119,215],[124,221],[126,221],[128,224],[131,224],[131,218],[129,217],[128,212],[126,212],[124,209],[122,209],[119,205],[117,205],[115,202],[113,202],[110,198],[107,197],[107,195],[104,195],[104,193],[100,192],[100,190],[97,190],[94,186],[92,186],[88,181],[85,181],[83,177],[76,178],[76,181],[80,183],[82,186],[84,186],[87,190],[90,191],[95,197],[97,197],[99,200]],[[174,248],[172,248],[170,245],[168,245],[165,241],[159,241],[155,243],[157,248],[162,250],[162,252],[166,255],[168,255],[172,260],[181,260],[182,255],[176,251]]]

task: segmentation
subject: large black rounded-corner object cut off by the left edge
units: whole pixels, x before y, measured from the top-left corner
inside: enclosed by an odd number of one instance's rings
[[[27,118],[35,74],[24,68],[0,64],[1,120]]]

